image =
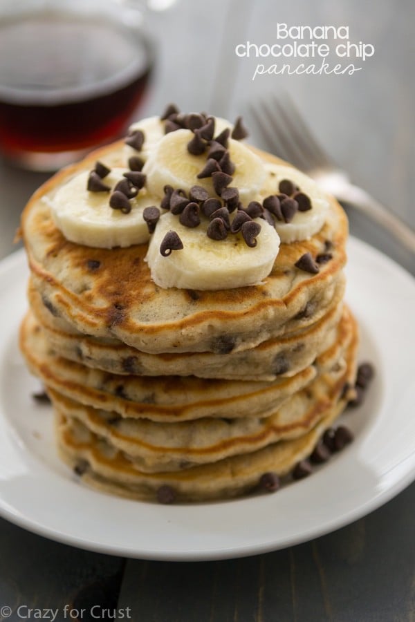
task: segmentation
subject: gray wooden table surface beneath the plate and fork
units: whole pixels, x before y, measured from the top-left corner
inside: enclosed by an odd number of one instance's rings
[[[414,17],[412,0],[181,0],[149,17],[158,67],[142,114],[172,100],[233,118],[259,95],[287,90],[353,180],[414,227]],[[267,75],[252,82],[252,62],[235,58],[234,45],[272,44],[277,22],[348,25],[351,39],[374,44],[376,53],[350,77]],[[252,129],[252,142],[261,146]],[[0,256],[12,252],[21,209],[46,177],[0,162]],[[385,232],[350,218],[353,234],[410,267]],[[119,619],[145,622],[414,621],[414,516],[412,484],[369,516],[310,543],[209,563],[84,552],[0,519],[0,620],[28,619],[27,607],[57,610],[59,621],[83,607],[82,619],[90,620],[91,607],[100,605],[118,607]]]

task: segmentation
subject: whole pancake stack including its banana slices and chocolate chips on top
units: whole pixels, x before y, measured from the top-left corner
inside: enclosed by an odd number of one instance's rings
[[[21,351],[60,455],[103,491],[275,491],[352,439],[333,427],[356,399],[347,218],[246,136],[170,104],[24,210]]]

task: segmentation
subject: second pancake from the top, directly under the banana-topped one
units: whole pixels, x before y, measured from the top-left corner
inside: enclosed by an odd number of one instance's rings
[[[121,341],[99,339],[77,332],[66,321],[53,317],[33,286],[29,288],[29,302],[50,346],[62,357],[91,368],[121,375],[194,375],[201,378],[273,381],[281,374],[291,376],[299,373],[329,347],[342,316],[343,292],[344,283],[341,283],[331,308],[315,324],[263,341],[256,348],[223,355],[214,352],[158,355],[139,352]]]

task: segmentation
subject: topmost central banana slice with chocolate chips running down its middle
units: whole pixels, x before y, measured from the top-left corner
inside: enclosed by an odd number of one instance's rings
[[[154,196],[163,196],[166,184],[182,188],[186,192],[199,185],[216,196],[212,178],[198,179],[197,174],[205,167],[206,153],[192,156],[187,151],[187,143],[193,138],[190,130],[180,129],[166,134],[150,153],[143,173],[147,175],[147,187]],[[232,187],[239,190],[239,198],[245,205],[254,200],[266,182],[266,171],[261,159],[245,144],[229,139],[230,160],[236,169],[232,175]]]

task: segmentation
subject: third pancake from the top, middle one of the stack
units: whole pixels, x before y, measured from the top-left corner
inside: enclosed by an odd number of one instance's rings
[[[308,385],[317,374],[332,370],[353,337],[354,320],[346,308],[329,347],[293,377],[273,382],[201,379],[194,376],[118,376],[68,361],[50,347],[31,314],[21,324],[20,347],[30,370],[46,386],[77,402],[121,417],[154,422],[180,422],[203,417],[265,417]]]

